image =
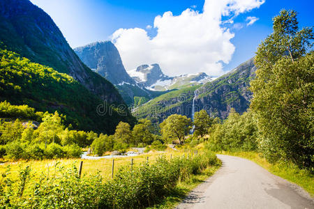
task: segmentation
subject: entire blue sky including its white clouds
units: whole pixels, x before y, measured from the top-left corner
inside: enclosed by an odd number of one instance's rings
[[[31,0],[71,47],[111,40],[126,70],[158,63],[166,75],[218,77],[255,55],[281,9],[313,26],[311,0]]]

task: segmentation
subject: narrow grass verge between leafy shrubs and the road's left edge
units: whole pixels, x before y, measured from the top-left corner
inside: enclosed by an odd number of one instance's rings
[[[204,180],[212,176],[219,168],[221,164],[216,167],[207,167],[201,173],[197,175],[190,176],[185,181],[179,182],[177,187],[172,189],[170,194],[167,197],[154,206],[153,208],[163,209],[163,208],[174,208],[177,206],[185,197],[186,195],[193,190],[197,185],[204,183]]]

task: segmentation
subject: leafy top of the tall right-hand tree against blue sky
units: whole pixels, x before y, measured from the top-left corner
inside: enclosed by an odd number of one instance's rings
[[[306,27],[298,31],[297,13],[294,10],[281,10],[281,14],[274,17],[273,29],[274,32],[257,49],[257,68],[270,70],[268,68],[283,56],[289,57],[292,62],[297,61],[313,47],[313,29]],[[267,77],[264,78],[267,80]]]

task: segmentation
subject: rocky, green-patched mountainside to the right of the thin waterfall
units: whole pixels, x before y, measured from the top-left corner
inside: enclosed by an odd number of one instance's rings
[[[211,116],[223,119],[227,118],[231,108],[239,113],[246,111],[252,98],[248,88],[255,71],[252,58],[214,82],[204,84],[197,89],[195,111],[205,109]]]

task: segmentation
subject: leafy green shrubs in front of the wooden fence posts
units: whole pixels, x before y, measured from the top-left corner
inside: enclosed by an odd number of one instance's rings
[[[144,208],[164,198],[181,180],[218,164],[213,153],[193,158],[160,157],[155,163],[121,169],[112,180],[77,174],[77,168],[64,171],[55,165],[50,176],[34,178],[29,167],[20,169],[20,179],[10,180],[10,169],[0,180],[0,206],[4,208]]]

